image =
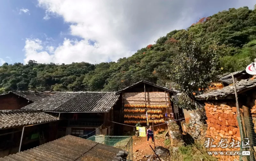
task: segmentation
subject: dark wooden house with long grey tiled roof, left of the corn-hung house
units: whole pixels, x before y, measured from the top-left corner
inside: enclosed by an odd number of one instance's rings
[[[57,92],[22,109],[57,113],[59,137],[71,134],[87,138],[114,134],[114,123],[110,121],[114,120],[118,99],[115,92]]]

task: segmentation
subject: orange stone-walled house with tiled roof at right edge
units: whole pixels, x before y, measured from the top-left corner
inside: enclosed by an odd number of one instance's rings
[[[207,131],[206,137],[211,137],[215,142],[226,138],[228,142],[233,139],[241,141],[247,138],[250,141],[250,148],[255,148],[254,138],[256,134],[256,79],[245,79],[236,82],[238,97],[238,108],[240,109],[240,125],[237,119],[237,107],[234,85],[226,86],[219,90],[209,91],[196,96],[205,106]],[[239,128],[243,128],[240,130]],[[243,131],[241,136],[240,131]],[[211,148],[210,148],[211,149]],[[223,149],[226,151],[227,149]],[[237,150],[231,148],[228,151]],[[239,160],[239,156],[220,156],[219,160]],[[253,154],[250,159],[255,160]],[[242,160],[246,160],[243,158]]]

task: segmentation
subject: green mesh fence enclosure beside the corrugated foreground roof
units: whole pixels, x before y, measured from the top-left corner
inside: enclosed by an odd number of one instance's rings
[[[94,135],[89,138],[88,140],[92,140],[95,142],[99,142],[101,144],[114,146],[121,150],[128,152],[127,160],[132,160],[132,136],[100,136]]]

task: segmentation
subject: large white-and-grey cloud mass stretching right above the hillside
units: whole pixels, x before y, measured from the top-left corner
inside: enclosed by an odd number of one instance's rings
[[[243,5],[248,4],[245,1]],[[49,19],[49,15],[62,17],[71,24],[69,34],[82,40],[65,39],[50,51],[44,42],[28,39],[24,47],[24,61],[35,59],[42,63],[60,64],[116,61],[120,57],[131,56],[173,29],[187,28],[205,13],[212,15],[240,7],[238,2],[242,1],[38,0],[38,5],[46,10],[44,19]],[[96,42],[94,46],[88,43],[89,40]]]

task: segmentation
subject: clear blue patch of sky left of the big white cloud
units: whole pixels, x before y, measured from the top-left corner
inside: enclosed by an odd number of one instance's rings
[[[25,2],[25,3],[24,3]],[[0,58],[12,64],[22,62],[26,38],[39,38],[46,41],[52,39],[53,45],[63,42],[64,37],[72,37],[68,33],[69,25],[62,17],[43,19],[45,10],[37,6],[38,2],[4,0],[0,1]],[[20,9],[28,9],[28,13]],[[63,34],[61,34],[63,33]],[[73,36],[74,37],[74,36]],[[10,57],[12,61],[8,58]]]

